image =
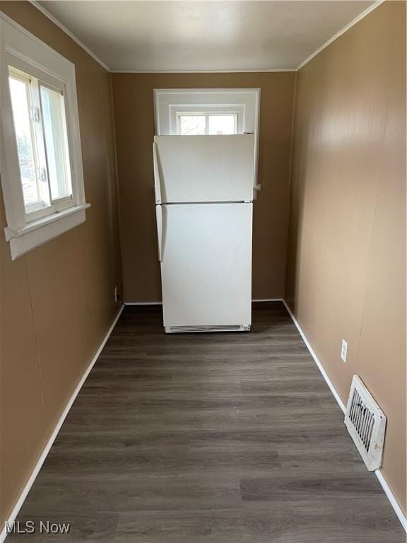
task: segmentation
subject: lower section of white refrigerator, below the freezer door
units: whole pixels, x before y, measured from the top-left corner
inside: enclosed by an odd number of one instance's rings
[[[253,204],[162,206],[166,332],[248,330]]]

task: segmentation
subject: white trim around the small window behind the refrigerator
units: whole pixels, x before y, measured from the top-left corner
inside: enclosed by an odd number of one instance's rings
[[[259,160],[259,88],[156,88],[155,134],[177,134],[178,112],[237,112],[237,134],[254,134],[254,179]],[[256,185],[256,190],[260,187]],[[256,194],[256,191],[254,192]]]

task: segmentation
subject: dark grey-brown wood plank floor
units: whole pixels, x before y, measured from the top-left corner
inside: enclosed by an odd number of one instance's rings
[[[19,520],[22,542],[402,543],[281,303],[250,333],[165,335],[127,307]]]

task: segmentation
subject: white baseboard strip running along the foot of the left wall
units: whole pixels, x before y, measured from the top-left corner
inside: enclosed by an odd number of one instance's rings
[[[88,377],[88,375],[90,373],[90,370],[93,368],[93,366],[95,365],[95,362],[98,360],[98,357],[99,357],[100,353],[102,352],[102,349],[105,346],[107,339],[109,339],[110,334],[112,334],[112,331],[114,329],[114,326],[116,325],[116,322],[119,320],[120,315],[122,315],[123,309],[124,309],[124,305],[122,305],[122,307],[119,309],[116,317],[114,317],[114,321],[112,322],[112,326],[110,327],[107,334],[105,335],[105,338],[103,339],[102,344],[100,344],[100,347],[99,347],[98,351],[96,351],[95,356],[93,356],[92,361],[90,361],[90,364],[89,364],[88,368],[86,368],[85,373],[83,373],[81,380],[79,381],[78,385],[76,386],[76,389],[73,391],[73,394],[71,395],[71,397],[69,399],[69,402],[66,404],[66,407],[65,407],[64,411],[62,412],[61,416],[59,417],[59,421],[57,422],[57,426],[55,426],[51,437],[47,441],[47,444],[45,445],[45,448],[42,450],[40,458],[37,460],[37,463],[35,464],[35,467],[34,467],[33,471],[31,472],[30,477],[28,478],[28,481],[25,483],[25,486],[24,486],[23,490],[21,491],[20,496],[18,496],[18,500],[17,500],[16,505],[14,506],[13,510],[11,511],[10,516],[6,520],[6,522],[8,522],[8,525],[12,525],[14,520],[16,520],[16,517],[17,517],[17,515],[18,515],[18,513],[20,511],[20,508],[23,506],[25,498],[27,497],[28,492],[30,491],[31,487],[33,486],[34,481],[35,481],[38,473],[40,472],[40,469],[42,468],[42,465],[44,464],[45,459],[47,458],[49,449],[54,444],[54,440],[55,440],[55,438],[57,438],[58,432],[61,429],[62,424],[64,424],[64,420],[66,419],[66,415],[69,413],[69,410],[71,409],[72,404],[76,399],[76,396],[78,396],[78,393],[81,390],[81,388],[83,386],[83,383],[85,383],[85,380]],[[1,530],[1,532],[0,532],[0,543],[3,543],[4,539],[6,539],[6,537],[7,537],[6,526],[4,526],[3,530]]]

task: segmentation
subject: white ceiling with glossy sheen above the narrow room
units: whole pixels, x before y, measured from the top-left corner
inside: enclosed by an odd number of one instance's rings
[[[361,0],[38,2],[112,71],[297,67],[362,11]]]

